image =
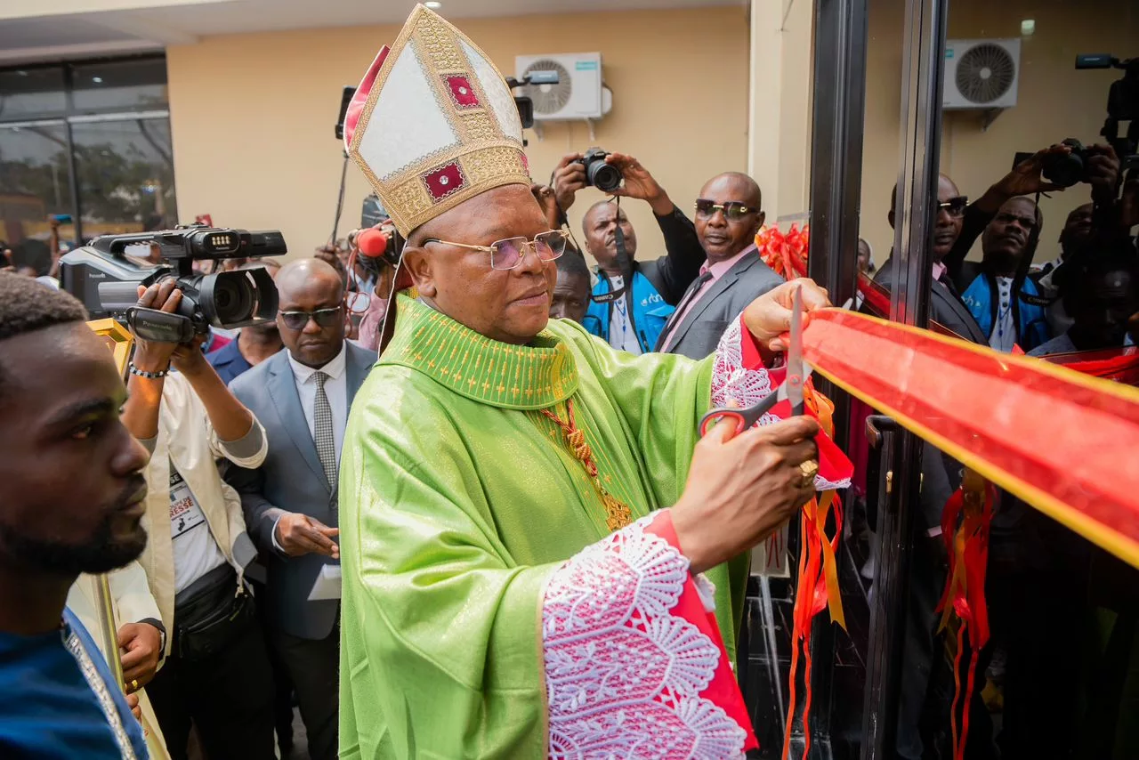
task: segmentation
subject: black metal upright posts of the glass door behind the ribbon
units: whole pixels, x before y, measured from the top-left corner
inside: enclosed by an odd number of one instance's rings
[[[862,180],[869,0],[816,0],[814,91],[811,145],[811,256],[809,275],[842,305],[854,296]],[[948,0],[907,0],[898,169],[898,214],[892,255],[898,260],[891,319],[925,327],[941,153],[941,95]],[[821,386],[836,406],[836,435],[850,418],[845,393]],[[879,425],[883,427],[884,425]],[[909,516],[918,504],[920,440],[902,430],[880,431],[882,547],[870,611],[862,713],[862,760],[894,757],[902,669],[902,631],[909,587]],[[812,631],[817,711],[811,717],[811,760],[830,751],[834,626]],[[800,730],[802,728],[800,724]],[[801,758],[802,743],[793,755]]]

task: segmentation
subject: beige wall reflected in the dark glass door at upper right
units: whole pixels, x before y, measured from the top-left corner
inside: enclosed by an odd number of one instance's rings
[[[870,3],[862,237],[874,245],[879,265],[893,240],[886,212],[899,164],[903,16],[901,0]],[[1075,71],[1076,54],[1113,52],[1123,58],[1139,54],[1139,3],[1134,0],[1084,0],[1077,5],[954,0],[949,36],[1019,36],[1025,18],[1036,25],[1032,36],[1023,38],[1016,107],[1005,111],[986,131],[981,129],[977,112],[947,113],[943,121],[942,171],[974,198],[1011,167],[1018,150],[1034,150],[1066,137],[1085,144],[1097,140],[1106,116],[1107,88],[1122,72]],[[1055,258],[1064,218],[1087,201],[1087,185],[1041,201],[1044,229],[1036,261]],[[980,243],[972,255],[980,255]]]

